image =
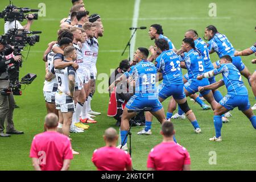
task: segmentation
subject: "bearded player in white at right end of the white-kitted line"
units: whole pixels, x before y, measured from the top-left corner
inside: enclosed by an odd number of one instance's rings
[[[92,61],[90,63],[90,93],[89,93],[88,100],[87,100],[87,112],[89,114],[99,115],[101,113],[98,113],[91,109],[90,102],[91,102],[92,96],[96,90],[96,76],[97,76],[96,63],[97,63],[97,58],[98,58],[98,38],[103,36],[104,28],[103,28],[101,22],[97,22],[97,21],[93,22],[93,25],[96,27],[96,32],[95,32],[93,38],[91,38],[88,35],[88,38],[90,38],[90,49],[92,51]]]

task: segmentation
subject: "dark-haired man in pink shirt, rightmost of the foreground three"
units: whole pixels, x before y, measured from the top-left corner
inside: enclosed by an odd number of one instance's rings
[[[189,153],[174,142],[175,130],[172,122],[164,122],[160,133],[163,135],[163,142],[152,148],[148,154],[148,171],[189,171]]]

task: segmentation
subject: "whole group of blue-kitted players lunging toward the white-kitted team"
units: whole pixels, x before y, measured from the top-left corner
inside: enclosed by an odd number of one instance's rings
[[[232,44],[225,35],[217,31],[216,27],[211,25],[205,28],[205,39],[209,40],[208,44],[198,37],[195,30],[188,30],[185,32],[185,38],[179,50],[175,49],[170,39],[163,36],[160,24],[152,24],[148,34],[151,39],[155,39],[155,46],[150,47],[151,56],[148,57],[148,49],[138,48],[133,60],[137,64],[117,78],[109,87],[112,90],[118,82],[129,77],[135,80],[135,94],[127,102],[122,115],[121,143],[125,144],[122,147],[123,150],[127,150],[125,138],[129,129],[129,119],[134,117],[136,110],[144,107],[152,109],[150,112],[146,112],[146,127],[138,134],[151,134],[152,115],[160,123],[170,119],[175,110],[176,102],[180,110],[191,121],[195,132],[200,133],[199,123],[186,100],[187,96],[196,92],[201,93],[214,111],[213,121],[216,135],[209,140],[218,142],[222,140],[222,118],[225,118],[224,114],[233,110],[234,107],[238,107],[250,119],[251,124],[256,129],[256,117],[250,108],[248,92],[241,75],[248,79],[249,84],[254,83],[255,80],[250,79],[250,73],[242,63],[241,57],[234,56],[235,49]],[[217,52],[220,57],[219,61],[215,63],[210,61],[209,53],[212,52]],[[245,50],[245,52],[247,53],[244,55],[255,52],[255,46],[251,47],[250,50]],[[236,55],[239,54],[236,52]],[[243,54],[241,53],[241,55]],[[154,59],[155,65],[151,63]],[[185,84],[183,83],[181,68],[188,71],[188,75],[185,76],[187,80]],[[157,72],[158,74],[156,74]],[[220,73],[222,73],[223,79],[216,82],[214,76]],[[157,77],[159,80],[163,80],[159,88],[156,88],[155,85]],[[217,90],[222,85],[225,85],[228,90],[225,97]],[[170,101],[165,117],[160,102],[170,96],[173,96],[173,100]],[[130,113],[128,110],[135,111]]]

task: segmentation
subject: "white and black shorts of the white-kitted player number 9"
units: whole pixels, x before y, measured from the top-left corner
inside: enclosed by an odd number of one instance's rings
[[[61,113],[75,112],[75,103],[70,96],[56,93],[55,99],[56,109],[60,110]]]

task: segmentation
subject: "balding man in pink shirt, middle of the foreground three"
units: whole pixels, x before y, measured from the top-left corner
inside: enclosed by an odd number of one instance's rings
[[[113,127],[105,130],[105,147],[96,149],[93,152],[92,162],[98,171],[131,171],[131,157],[120,148],[116,148],[118,134]]]

